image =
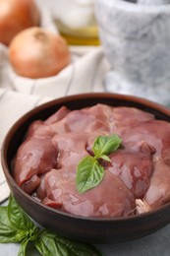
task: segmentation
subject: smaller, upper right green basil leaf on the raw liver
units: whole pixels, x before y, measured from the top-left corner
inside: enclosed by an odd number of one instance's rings
[[[92,147],[95,158],[100,158],[103,155],[109,155],[115,152],[121,145],[121,138],[114,134],[112,136],[98,136]]]

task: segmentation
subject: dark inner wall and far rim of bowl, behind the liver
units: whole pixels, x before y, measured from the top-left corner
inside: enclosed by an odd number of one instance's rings
[[[121,96],[114,94],[85,94],[82,96],[67,96],[54,99],[34,108],[33,110],[30,110],[12,127],[8,133],[8,137],[10,137],[10,143],[15,145],[15,148],[8,148],[8,154],[6,155],[8,166],[10,167],[10,162],[14,158],[17,149],[23,142],[26,131],[31,122],[38,119],[46,119],[63,105],[73,110],[85,106],[91,106],[97,103],[103,103],[112,106],[137,107],[154,114],[157,119],[170,121],[170,112],[168,109],[157,103],[135,96]],[[7,138],[6,140],[9,139]]]

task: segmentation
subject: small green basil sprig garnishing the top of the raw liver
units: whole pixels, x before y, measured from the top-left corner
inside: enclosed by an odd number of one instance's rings
[[[98,136],[92,146],[94,157],[87,156],[80,160],[77,169],[76,186],[80,194],[96,187],[104,177],[104,167],[99,160],[110,161],[108,155],[118,150],[121,138],[112,136]]]

